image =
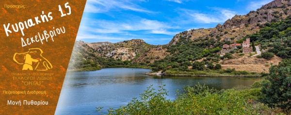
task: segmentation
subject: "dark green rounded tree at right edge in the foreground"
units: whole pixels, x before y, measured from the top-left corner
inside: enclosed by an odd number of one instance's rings
[[[270,74],[263,83],[262,93],[265,95],[261,102],[269,107],[291,109],[291,59],[282,60],[279,65],[273,65]]]

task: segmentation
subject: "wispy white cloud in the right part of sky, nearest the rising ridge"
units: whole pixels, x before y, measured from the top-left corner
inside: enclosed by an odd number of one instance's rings
[[[236,12],[222,9],[222,8],[211,8],[216,12],[211,13],[199,13],[194,10],[179,9],[180,14],[186,17],[189,23],[221,23],[227,19],[231,19]]]

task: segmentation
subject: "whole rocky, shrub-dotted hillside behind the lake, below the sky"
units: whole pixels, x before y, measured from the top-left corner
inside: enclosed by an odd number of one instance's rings
[[[272,64],[278,64],[282,58],[290,58],[291,55],[289,38],[291,26],[290,16],[288,16],[291,14],[290,5],[289,0],[274,0],[257,11],[250,11],[246,15],[235,15],[223,25],[180,32],[165,45],[150,45],[142,39],[117,43],[76,41],[69,69],[147,67],[152,68],[153,71],[182,72],[192,71],[191,69],[214,71],[229,68],[246,71],[243,73],[248,74],[251,72],[268,73]],[[250,57],[256,52],[242,53],[241,47],[223,56],[217,53],[222,49],[223,44],[231,44],[234,41],[242,43],[246,38],[250,38],[262,52],[272,52],[277,57],[271,59],[261,58],[260,55]],[[256,63],[256,67],[250,62]],[[250,70],[249,66],[255,69]]]

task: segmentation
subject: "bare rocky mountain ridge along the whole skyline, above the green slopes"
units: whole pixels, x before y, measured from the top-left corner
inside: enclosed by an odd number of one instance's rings
[[[156,60],[173,55],[173,53],[168,52],[168,48],[177,43],[183,45],[184,42],[199,43],[209,39],[214,42],[220,41],[221,43],[224,41],[233,42],[234,40],[240,40],[246,35],[259,32],[259,29],[264,27],[265,23],[273,23],[285,19],[291,14],[290,9],[291,1],[274,0],[263,5],[257,11],[250,11],[246,15],[235,15],[231,19],[226,20],[223,25],[218,24],[214,28],[191,29],[180,32],[165,45],[150,45],[142,39],[131,39],[117,43],[86,43],[76,41],[77,46],[79,46],[78,48],[81,50],[73,50],[73,54],[80,56],[81,53],[87,53],[82,54],[83,60],[92,61],[92,58],[100,56],[104,59],[113,58],[115,60],[130,61],[132,64],[152,64]],[[214,47],[217,46],[210,45],[207,48]]]

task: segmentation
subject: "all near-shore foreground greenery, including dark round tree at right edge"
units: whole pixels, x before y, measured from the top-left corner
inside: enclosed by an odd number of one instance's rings
[[[168,91],[150,85],[140,98],[108,110],[109,115],[291,115],[291,59],[271,66],[269,74],[252,86],[210,89],[185,86],[175,100],[166,99]],[[96,107],[100,112],[102,107]],[[102,112],[100,112],[102,115]]]

